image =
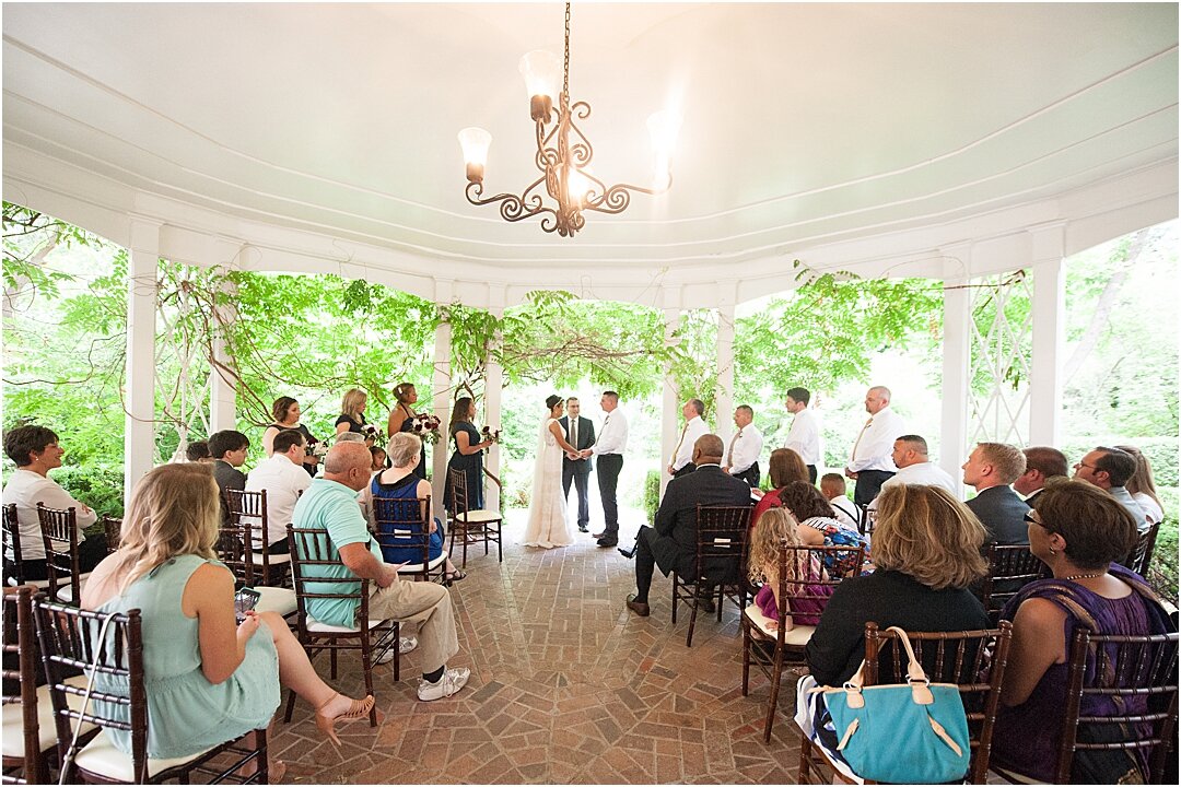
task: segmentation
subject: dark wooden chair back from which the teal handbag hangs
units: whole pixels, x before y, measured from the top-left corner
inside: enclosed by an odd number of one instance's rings
[[[1012,627],[979,631],[907,631],[914,655],[932,683],[955,683],[967,711],[972,762],[967,781],[987,781],[992,730],[1000,708],[1000,684],[1009,662]],[[866,624],[866,686],[906,683],[906,649],[894,631]]]

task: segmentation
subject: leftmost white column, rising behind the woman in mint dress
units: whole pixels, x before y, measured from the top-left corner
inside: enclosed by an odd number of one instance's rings
[[[128,359],[124,372],[123,504],[156,458],[156,290],[159,228],[133,218],[128,261]]]

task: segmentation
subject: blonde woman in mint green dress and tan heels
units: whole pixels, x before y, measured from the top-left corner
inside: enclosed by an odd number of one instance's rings
[[[83,609],[141,610],[148,756],[190,756],[267,727],[279,707],[280,671],[339,746],[337,722],[366,717],[373,697],[350,700],[329,688],[279,615],[250,612],[235,624],[234,576],[214,555],[220,520],[207,465],[157,467],[132,493],[119,550],[81,593]],[[100,683],[99,690],[126,690]],[[104,732],[131,753],[130,733]],[[283,768],[272,767],[278,781]]]

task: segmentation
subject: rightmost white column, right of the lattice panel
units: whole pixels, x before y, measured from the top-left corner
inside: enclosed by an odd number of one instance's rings
[[[1032,235],[1033,353],[1030,368],[1030,445],[1061,445],[1062,363],[1065,346],[1066,273],[1063,228]]]

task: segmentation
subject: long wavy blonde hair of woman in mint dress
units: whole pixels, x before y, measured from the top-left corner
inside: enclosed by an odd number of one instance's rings
[[[216,558],[221,504],[213,471],[204,464],[162,465],[131,493],[119,532],[119,592],[180,555]]]

